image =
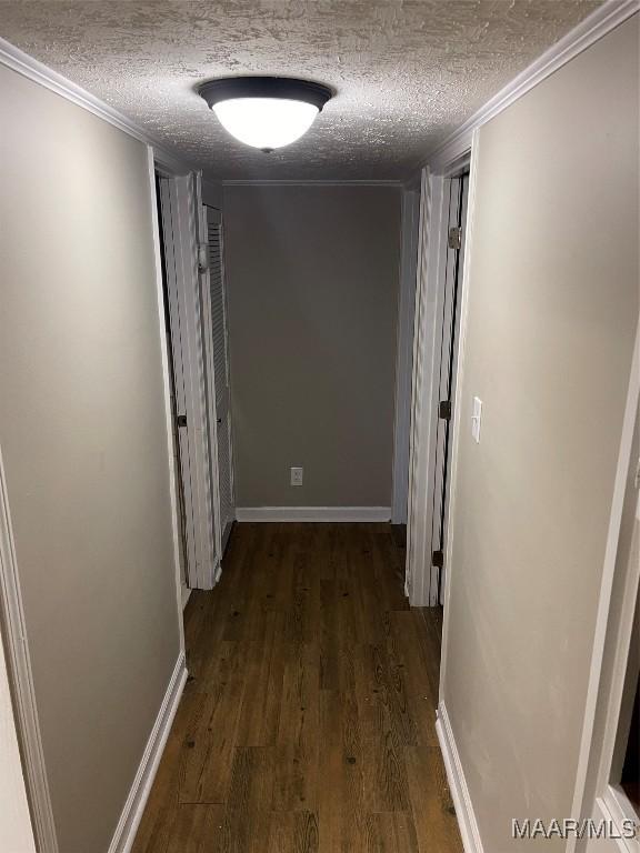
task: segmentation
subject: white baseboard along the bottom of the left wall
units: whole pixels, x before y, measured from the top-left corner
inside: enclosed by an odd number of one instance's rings
[[[167,688],[167,693],[162,700],[160,712],[149,735],[142,761],[136,773],[136,779],[124,803],[116,833],[109,845],[109,853],[129,853],[131,850],[186,681],[187,665],[184,652],[180,652],[169,686]]]

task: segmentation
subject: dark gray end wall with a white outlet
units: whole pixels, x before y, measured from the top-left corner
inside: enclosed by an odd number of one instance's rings
[[[394,188],[226,188],[238,506],[390,505],[399,247]]]

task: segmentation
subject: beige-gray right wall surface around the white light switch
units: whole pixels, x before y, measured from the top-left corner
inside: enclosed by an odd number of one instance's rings
[[[502,853],[573,797],[639,309],[637,18],[482,128],[477,181],[443,699]]]

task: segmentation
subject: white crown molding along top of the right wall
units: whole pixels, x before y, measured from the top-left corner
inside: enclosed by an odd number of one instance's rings
[[[490,101],[487,101],[442,144],[434,148],[426,158],[424,164],[438,172],[463,157],[471,149],[471,137],[477,128],[506,110],[507,107],[541,83],[542,80],[546,80],[638,11],[640,11],[640,0],[607,0],[560,41],[544,51]]]

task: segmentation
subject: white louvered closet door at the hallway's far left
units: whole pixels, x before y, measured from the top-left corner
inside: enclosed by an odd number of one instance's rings
[[[213,343],[213,380],[218,432],[218,478],[220,490],[220,531],[222,548],[233,522],[233,478],[231,453],[231,412],[229,404],[229,357],[227,342],[227,300],[222,263],[222,227],[217,211],[207,208],[209,241],[209,284],[211,337]]]

